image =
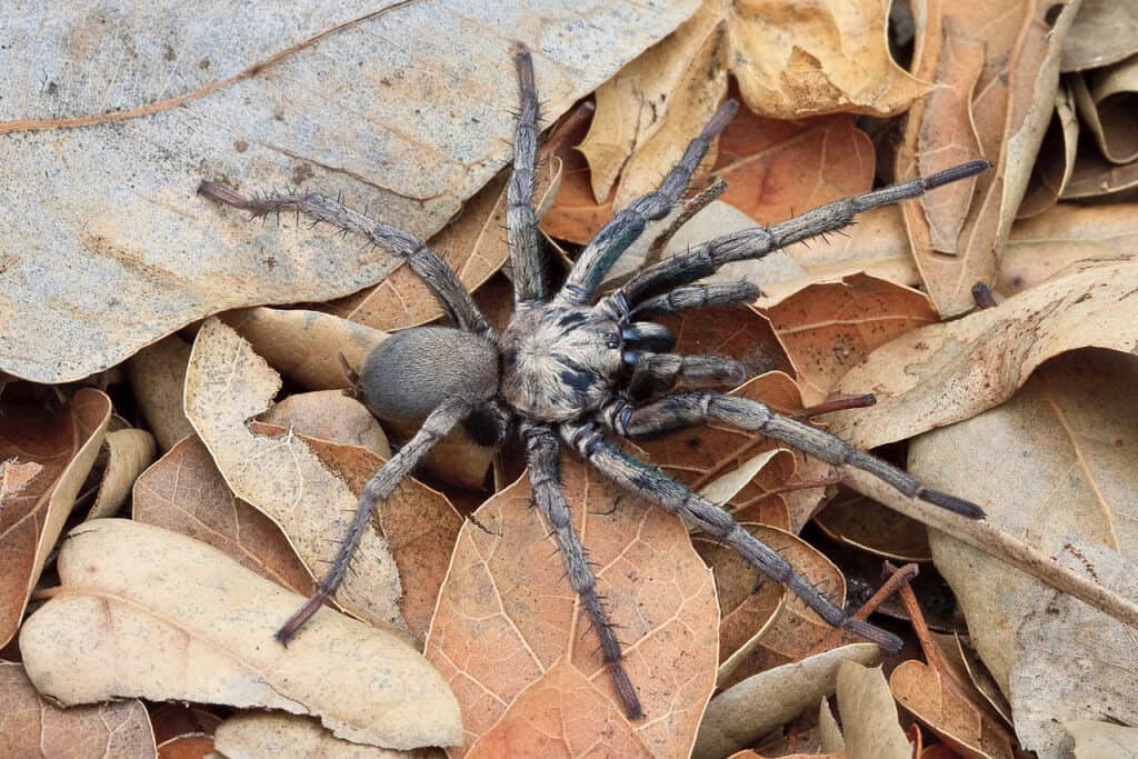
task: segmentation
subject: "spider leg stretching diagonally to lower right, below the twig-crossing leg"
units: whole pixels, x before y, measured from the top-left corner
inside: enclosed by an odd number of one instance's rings
[[[723,506],[693,493],[655,467],[627,455],[605,440],[593,424],[564,422],[559,431],[566,443],[613,482],[719,538],[759,571],[786,585],[833,627],[844,628],[890,651],[901,647],[900,638],[892,633],[853,619],[822,595],[782,554],[748,533]]]

